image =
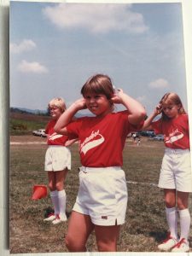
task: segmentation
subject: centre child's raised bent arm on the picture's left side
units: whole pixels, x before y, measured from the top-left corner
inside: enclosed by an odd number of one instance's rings
[[[54,130],[56,133],[67,135],[66,126],[72,121],[73,116],[79,110],[86,108],[84,98],[74,102],[67,110],[61,114],[57,120]]]

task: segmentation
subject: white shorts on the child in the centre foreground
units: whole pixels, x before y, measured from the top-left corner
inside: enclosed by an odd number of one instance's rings
[[[80,168],[73,211],[90,215],[96,225],[124,224],[127,199],[125,172],[120,167]]]

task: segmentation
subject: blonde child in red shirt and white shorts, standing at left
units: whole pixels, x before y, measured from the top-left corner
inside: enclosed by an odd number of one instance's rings
[[[52,221],[52,224],[60,224],[67,220],[66,216],[66,191],[64,188],[67,171],[71,169],[71,153],[65,147],[72,144],[68,137],[54,131],[54,126],[66,111],[66,104],[60,97],[52,99],[49,104],[51,120],[46,126],[45,133],[48,135],[48,149],[45,154],[45,171],[48,173],[50,198],[54,206],[54,213],[50,214],[44,221]]]

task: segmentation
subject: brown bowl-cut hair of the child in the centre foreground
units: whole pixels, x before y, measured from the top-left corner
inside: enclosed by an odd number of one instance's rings
[[[114,94],[113,84],[107,75],[96,74],[88,79],[81,89],[81,94],[104,94],[110,100]]]

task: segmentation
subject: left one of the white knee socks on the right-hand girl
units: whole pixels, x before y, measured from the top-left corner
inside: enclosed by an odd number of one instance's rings
[[[177,239],[177,210],[176,207],[166,207],[166,221],[169,226],[170,236]]]

